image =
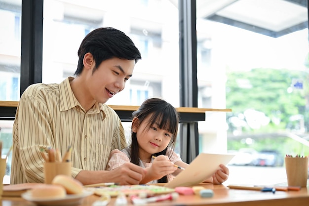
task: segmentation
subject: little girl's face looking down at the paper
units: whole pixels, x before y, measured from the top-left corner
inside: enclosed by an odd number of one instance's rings
[[[150,160],[152,154],[163,151],[172,138],[172,133],[159,129],[158,124],[149,125],[150,118],[151,116],[147,117],[141,124],[134,118],[132,125],[139,146],[139,158],[142,161]]]

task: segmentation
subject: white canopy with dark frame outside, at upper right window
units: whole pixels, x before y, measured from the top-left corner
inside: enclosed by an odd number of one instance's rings
[[[196,18],[277,38],[308,28],[307,0],[196,0]]]

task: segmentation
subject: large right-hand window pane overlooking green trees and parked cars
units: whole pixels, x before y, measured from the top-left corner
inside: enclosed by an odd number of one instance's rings
[[[254,166],[309,155],[305,3],[197,0],[198,107],[232,109],[199,123],[202,151]]]

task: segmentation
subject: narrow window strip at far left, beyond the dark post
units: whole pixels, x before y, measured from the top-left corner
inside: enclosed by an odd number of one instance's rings
[[[0,101],[20,96],[21,0],[0,0]],[[10,182],[13,121],[0,121],[1,158],[7,157],[3,183]],[[7,156],[8,155],[8,156]]]

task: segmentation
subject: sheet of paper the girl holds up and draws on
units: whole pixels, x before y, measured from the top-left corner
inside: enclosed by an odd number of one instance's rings
[[[220,169],[220,164],[227,165],[234,156],[233,154],[200,153],[185,170],[164,187],[175,188],[199,184]]]

